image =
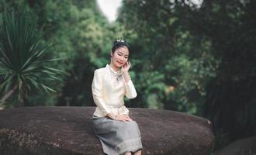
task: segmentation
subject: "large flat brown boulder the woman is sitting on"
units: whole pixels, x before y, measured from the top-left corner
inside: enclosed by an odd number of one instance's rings
[[[95,107],[26,107],[0,110],[2,154],[100,155],[92,130]],[[206,119],[181,112],[130,108],[140,127],[143,154],[208,155],[214,136]]]

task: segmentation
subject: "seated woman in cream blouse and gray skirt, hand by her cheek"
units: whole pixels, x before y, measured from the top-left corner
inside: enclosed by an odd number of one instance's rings
[[[140,155],[142,152],[140,129],[129,117],[124,96],[135,98],[137,92],[128,73],[130,47],[124,40],[112,45],[111,63],[95,70],[92,95],[95,105],[93,129],[108,155]]]

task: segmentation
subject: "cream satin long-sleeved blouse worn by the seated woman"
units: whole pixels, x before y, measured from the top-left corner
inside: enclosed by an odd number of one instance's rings
[[[126,82],[123,74],[119,74],[109,64],[94,71],[92,97],[97,107],[93,115],[103,117],[110,112],[114,115],[129,115],[123,101],[125,95],[127,98],[137,96],[131,80]]]

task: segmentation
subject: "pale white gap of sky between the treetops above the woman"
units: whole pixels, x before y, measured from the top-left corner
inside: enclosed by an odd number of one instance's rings
[[[122,5],[122,0],[97,0],[99,9],[106,15],[109,22],[114,22],[117,18],[117,9]]]

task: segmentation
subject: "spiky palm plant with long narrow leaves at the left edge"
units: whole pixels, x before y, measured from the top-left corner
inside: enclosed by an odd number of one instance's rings
[[[36,17],[29,12],[3,12],[0,15],[0,103],[18,93],[19,104],[32,88],[54,91],[47,85],[64,73],[43,60],[42,53],[49,47],[43,43],[36,26]]]

